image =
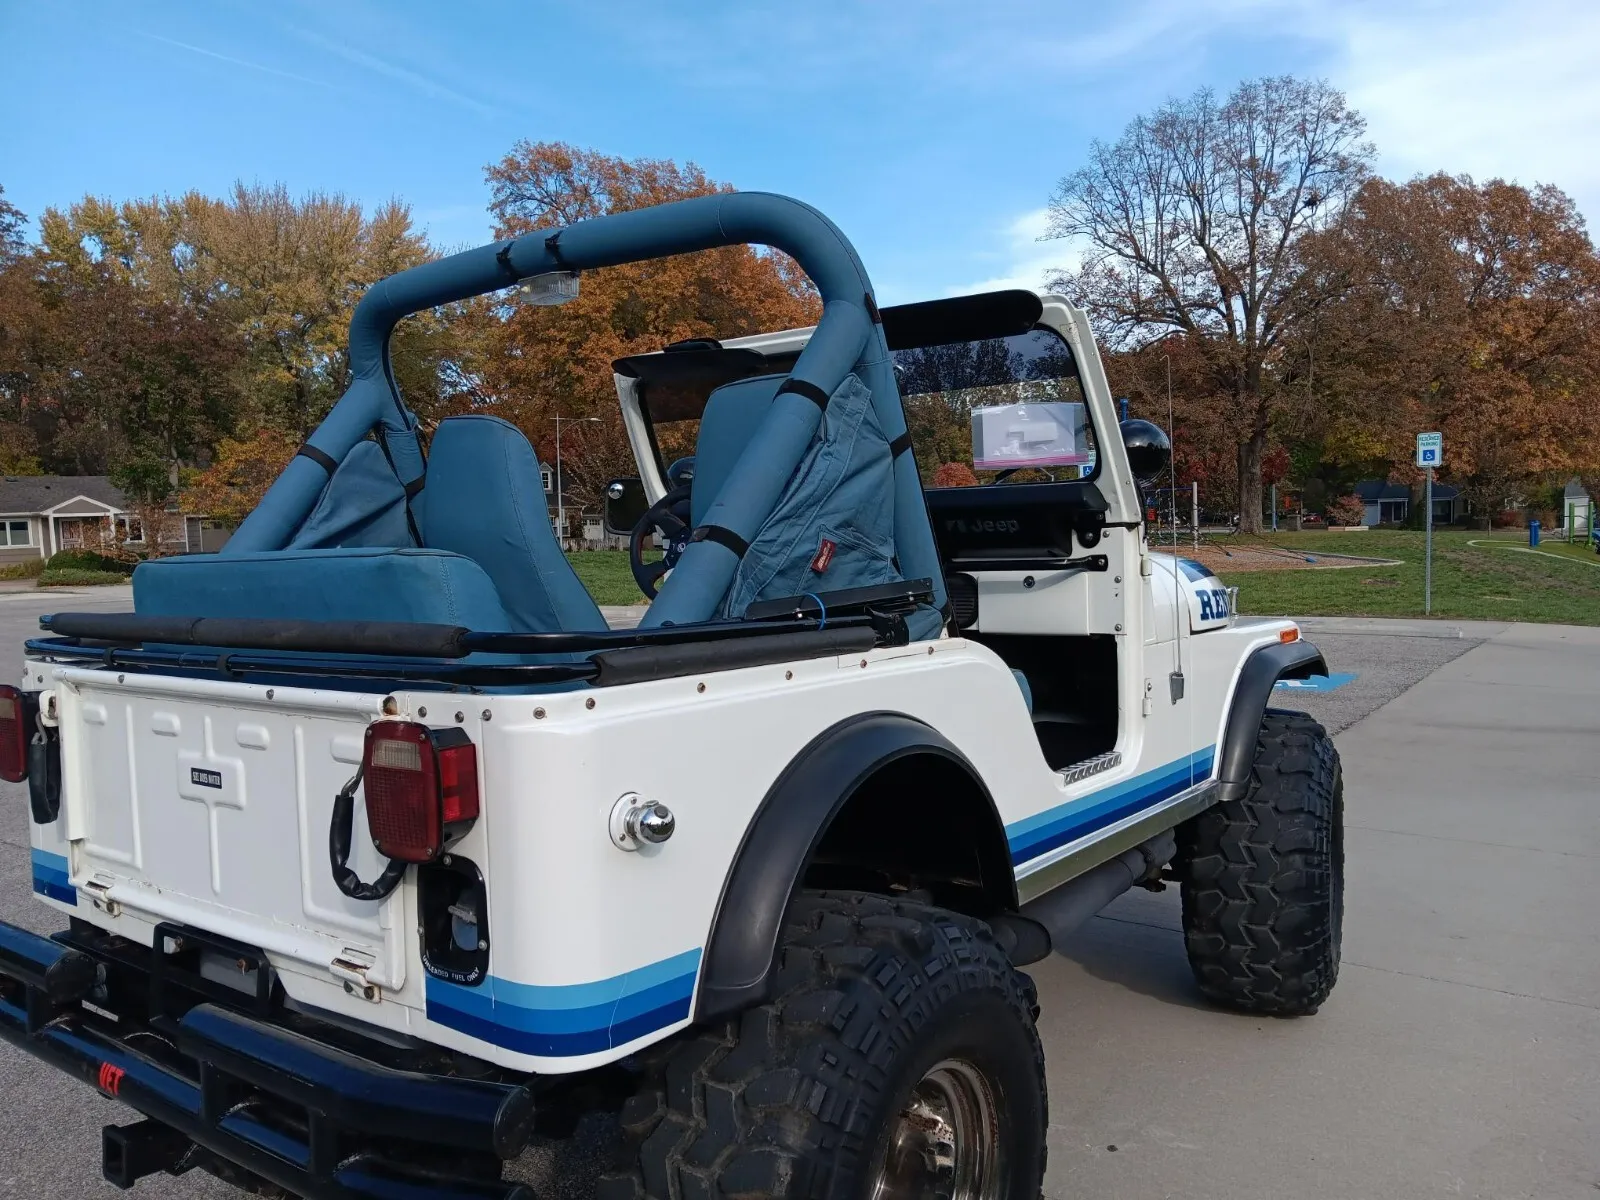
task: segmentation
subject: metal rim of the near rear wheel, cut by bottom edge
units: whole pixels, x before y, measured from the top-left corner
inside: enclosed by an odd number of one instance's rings
[[[890,1123],[872,1200],[1000,1200],[1000,1118],[971,1062],[946,1059]]]

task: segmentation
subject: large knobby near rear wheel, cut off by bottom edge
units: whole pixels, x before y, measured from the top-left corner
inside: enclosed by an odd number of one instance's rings
[[[1037,1013],[982,922],[802,893],[771,1002],[659,1048],[598,1200],[1038,1197]]]

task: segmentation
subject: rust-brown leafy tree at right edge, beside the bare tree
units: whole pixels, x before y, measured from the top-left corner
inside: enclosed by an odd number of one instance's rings
[[[1413,475],[1418,430],[1478,512],[1600,469],[1600,258],[1554,187],[1370,181],[1307,253],[1344,278],[1322,314],[1320,406]]]

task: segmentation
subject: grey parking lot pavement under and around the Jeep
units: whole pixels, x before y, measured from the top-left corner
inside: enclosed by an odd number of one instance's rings
[[[0,595],[0,678],[37,614],[125,589]],[[1347,811],[1339,986],[1298,1021],[1206,1006],[1176,890],[1134,893],[1032,968],[1050,1059],[1046,1195],[1594,1200],[1600,1195],[1600,629],[1306,621],[1336,691]],[[30,928],[26,797],[0,784],[0,915]],[[0,1046],[0,1195],[112,1197],[133,1118]],[[586,1195],[587,1150],[517,1165]],[[235,1195],[200,1174],[146,1197]]]

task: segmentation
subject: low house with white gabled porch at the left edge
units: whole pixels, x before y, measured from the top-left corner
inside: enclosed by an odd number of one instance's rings
[[[162,536],[168,554],[214,550],[227,533],[210,522],[174,514]],[[144,525],[104,475],[0,477],[0,563],[48,558],[58,550],[123,546],[146,549]]]

